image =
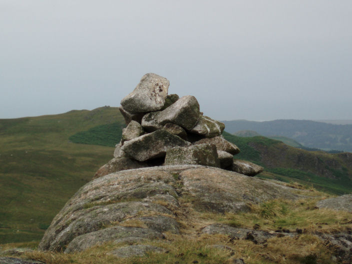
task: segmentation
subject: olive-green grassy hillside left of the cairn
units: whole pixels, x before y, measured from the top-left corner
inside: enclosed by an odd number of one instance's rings
[[[119,141],[123,123],[118,108],[107,106],[0,119],[0,243],[39,240],[67,199],[111,159],[111,138]],[[101,127],[112,133],[108,146],[72,142]]]

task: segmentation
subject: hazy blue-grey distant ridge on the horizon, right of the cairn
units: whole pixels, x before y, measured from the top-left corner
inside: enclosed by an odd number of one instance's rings
[[[352,152],[352,124],[330,124],[310,120],[223,121],[226,131],[252,130],[263,136],[292,138],[305,147]]]

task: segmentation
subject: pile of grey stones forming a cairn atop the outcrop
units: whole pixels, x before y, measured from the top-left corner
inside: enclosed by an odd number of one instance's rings
[[[198,164],[254,176],[262,167],[233,155],[239,148],[223,138],[225,125],[204,116],[194,96],[167,94],[169,81],[147,73],[119,107],[126,128],[112,158],[94,178],[124,169]]]

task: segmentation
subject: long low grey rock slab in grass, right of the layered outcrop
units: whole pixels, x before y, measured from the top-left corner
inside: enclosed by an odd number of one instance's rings
[[[246,239],[251,240],[255,244],[264,243],[270,237],[276,236],[275,233],[269,233],[261,230],[251,230],[246,228],[232,227],[226,224],[214,223],[208,226],[205,226],[202,230],[202,233],[208,234],[225,234],[231,237],[231,239]]]

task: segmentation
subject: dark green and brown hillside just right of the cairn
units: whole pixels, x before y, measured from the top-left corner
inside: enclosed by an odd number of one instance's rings
[[[330,193],[352,192],[352,154],[307,151],[263,136],[224,137],[241,152],[235,157],[263,166],[257,176],[285,182],[298,182]]]

